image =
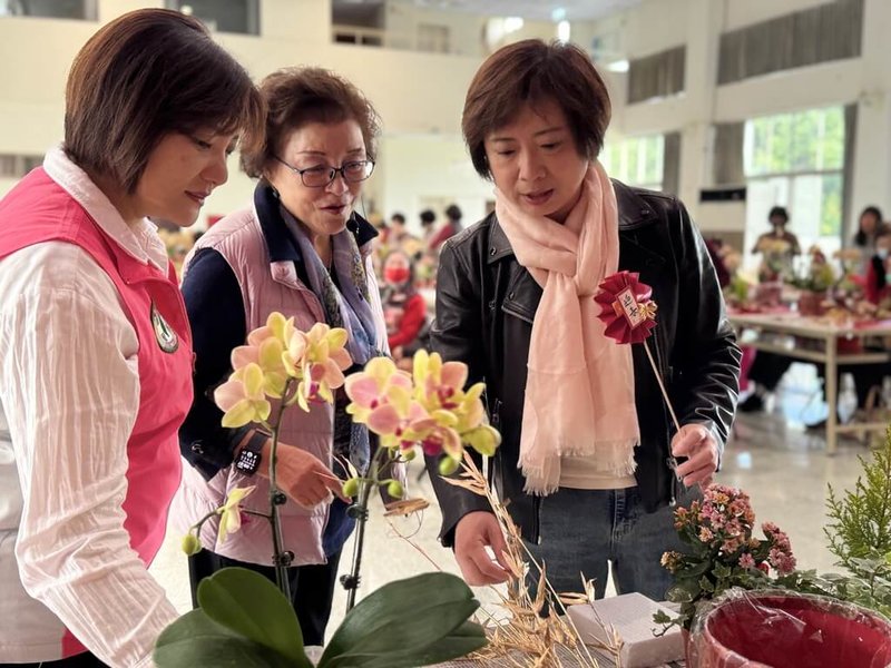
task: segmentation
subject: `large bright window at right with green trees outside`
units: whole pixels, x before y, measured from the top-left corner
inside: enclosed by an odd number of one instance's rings
[[[752,245],[767,229],[774,205],[790,213],[802,249],[841,245],[844,186],[844,109],[830,107],[753,118],[745,122],[743,165],[748,183]]]

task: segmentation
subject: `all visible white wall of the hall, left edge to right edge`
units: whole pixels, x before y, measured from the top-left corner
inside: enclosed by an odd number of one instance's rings
[[[467,219],[472,219],[472,212],[482,210],[487,186],[472,174],[461,179],[446,175],[450,169],[457,174],[454,163],[466,159],[458,139],[460,115],[481,57],[331,43],[330,1],[262,0],[262,37],[217,37],[256,78],[283,66],[315,63],[343,73],[363,89],[378,107],[386,135],[374,183],[368,185],[382,213],[402,208],[413,220],[418,198],[433,197],[432,190],[444,196],[443,189],[453,188],[451,194],[458,199],[468,198]],[[681,131],[681,195],[703,227],[737,228],[745,220],[740,205],[698,204],[699,189],[712,185],[714,122],[851,102],[859,106],[853,208],[877,204],[891,210],[891,67],[887,46],[891,2],[864,0],[861,58],[730,86],[714,85],[722,31],[822,1],[645,0],[599,21],[572,23],[572,40],[582,47],[588,48],[595,36],[608,36],[628,58],[686,45],[686,90],[681,96],[628,106],[627,75],[604,72],[614,102],[609,138]],[[99,17],[109,20],[139,6],[161,4],[161,0],[99,0]],[[479,46],[483,26],[479,17],[435,10],[418,10],[413,16],[403,12],[403,21],[407,26],[423,21],[449,24],[453,27],[453,43],[469,52]],[[60,139],[68,67],[96,28],[96,23],[86,21],[0,19],[0,153],[40,154]],[[552,23],[527,21],[510,39],[554,35]],[[29,57],[36,48],[40,57]],[[431,137],[424,139],[424,135]],[[420,155],[410,156],[412,150]],[[430,153],[425,156],[423,151]],[[248,200],[252,184],[237,169],[232,171],[229,184],[208,200],[206,213],[225,213]],[[0,194],[10,186],[9,179],[0,180]]]

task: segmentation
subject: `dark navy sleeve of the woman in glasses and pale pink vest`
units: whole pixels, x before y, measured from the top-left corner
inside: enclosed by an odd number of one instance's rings
[[[232,350],[247,336],[244,301],[232,267],[210,248],[199,250],[189,263],[183,298],[195,351],[195,396],[179,429],[179,450],[209,480],[232,463],[235,446],[251,430],[224,428],[223,411],[214,403],[214,390],[232,372]]]

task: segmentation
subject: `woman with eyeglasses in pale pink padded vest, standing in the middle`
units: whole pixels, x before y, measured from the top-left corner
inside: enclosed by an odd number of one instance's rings
[[[304,331],[317,322],[344,327],[356,365],[388,351],[369,256],[376,230],[354,210],[374,168],[376,112],[352,84],[317,68],[276,71],[261,94],[265,140],[242,153],[245,171],[260,179],[253,206],[214,225],[184,266],[196,354],[195,402],[179,432],[192,466],[172,512],[184,529],[236,487],[256,485],[243,508],[268,512],[271,439],[252,425],[221,426],[213,390],[231,372],[232,350],[271,312],[294,316]],[[360,470],[369,462],[368,431],[352,424],[346,403],[341,390],[333,406],[288,411],[280,433],[276,482],[288,497],[283,547],[294,554],[291,591],[306,645],[324,640],[341,549],[353,528],[336,459]],[[200,538],[205,550],[189,558],[193,598],[203,578],[227,566],[275,580],[265,520],[246,522],[224,542],[212,520]]]

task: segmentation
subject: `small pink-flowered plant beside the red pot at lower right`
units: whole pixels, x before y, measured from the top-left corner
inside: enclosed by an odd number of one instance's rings
[[[681,613],[654,617],[665,630],[677,625],[689,630],[697,606],[732,587],[758,589],[776,586],[775,576],[795,570],[789,537],[764,522],[763,539],[753,536],[755,513],[748,495],[735,488],[708,485],[702,501],[675,510],[675,529],[687,546],[684,552],[665,552],[662,564],[674,574],[666,598],[681,603]],[[772,574],[774,573],[774,574]]]

